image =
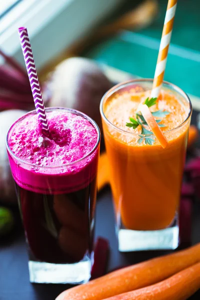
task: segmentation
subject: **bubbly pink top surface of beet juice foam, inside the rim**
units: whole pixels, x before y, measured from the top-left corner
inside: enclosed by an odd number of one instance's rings
[[[36,114],[16,123],[8,139],[10,150],[20,159],[38,166],[56,166],[86,156],[97,142],[97,132],[84,117],[65,111],[47,111],[49,137],[45,137]]]

